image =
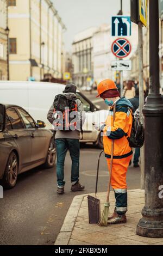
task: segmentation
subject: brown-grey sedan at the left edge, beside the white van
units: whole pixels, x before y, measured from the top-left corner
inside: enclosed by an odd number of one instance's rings
[[[40,164],[55,164],[53,133],[37,123],[25,109],[0,104],[0,180],[5,188],[16,184],[17,175]]]

